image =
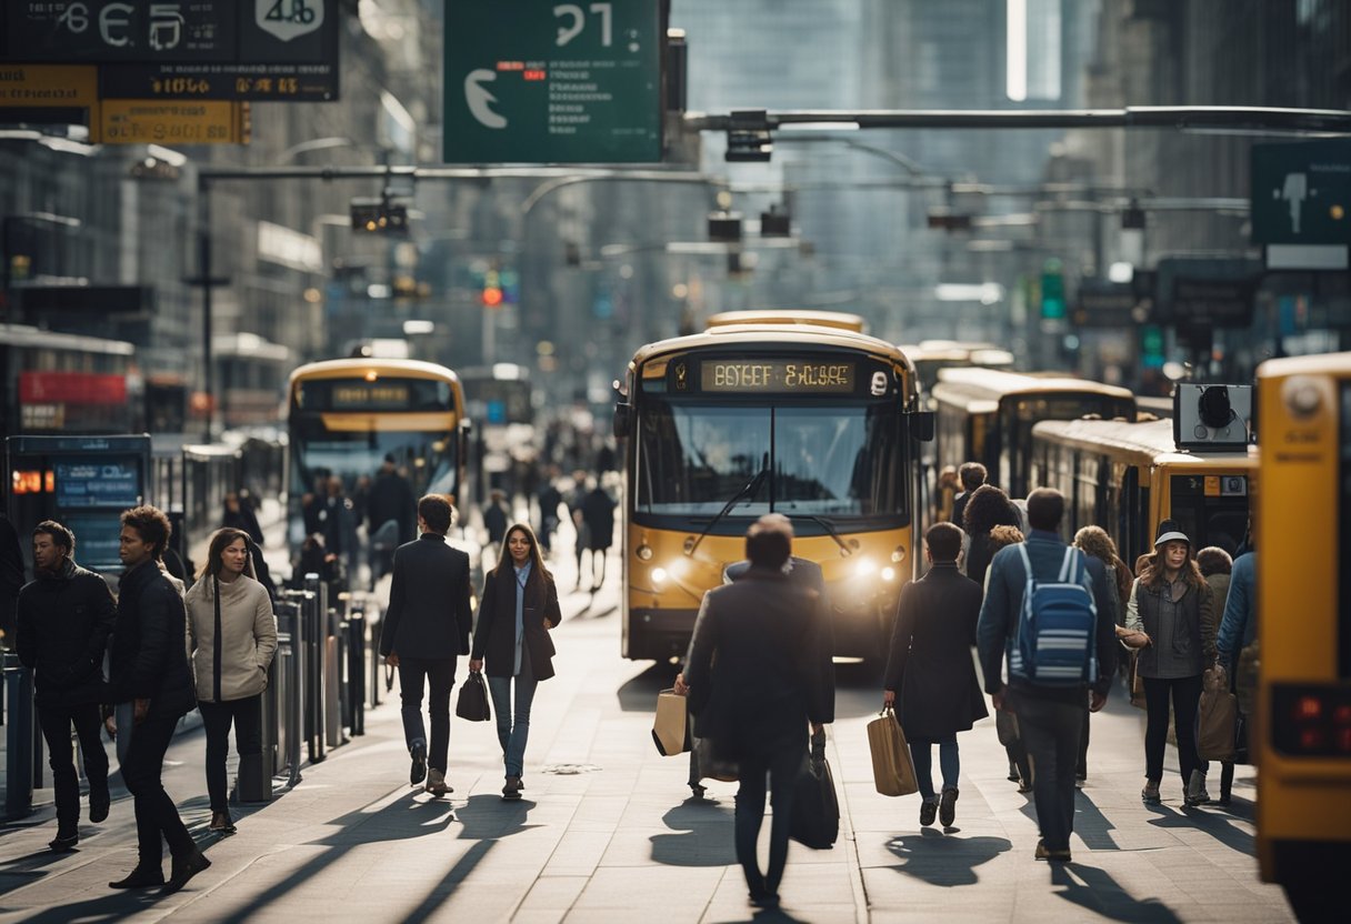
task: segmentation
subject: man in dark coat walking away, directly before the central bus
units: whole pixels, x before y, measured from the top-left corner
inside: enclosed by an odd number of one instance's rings
[[[784,573],[789,536],[773,521],[754,523],[747,531],[750,569],[734,584],[704,594],[680,685],[690,696],[698,735],[712,740],[715,755],[740,767],[736,859],[751,902],[761,908],[778,905],[807,725],[824,734],[823,725],[835,720],[824,601]],[[769,869],[761,873],[755,842],[765,819],[766,771],[774,821]]]

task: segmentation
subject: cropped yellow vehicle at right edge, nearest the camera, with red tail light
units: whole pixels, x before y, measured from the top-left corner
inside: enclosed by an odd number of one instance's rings
[[[1344,920],[1351,862],[1351,353],[1258,369],[1258,862]]]

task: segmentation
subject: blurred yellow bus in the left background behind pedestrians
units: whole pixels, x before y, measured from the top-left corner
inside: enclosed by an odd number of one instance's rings
[[[459,378],[444,366],[412,359],[328,359],[290,374],[288,542],[300,548],[304,498],[339,478],[350,497],[392,458],[413,490],[467,503],[465,457],[469,421]],[[412,539],[405,535],[401,539]]]

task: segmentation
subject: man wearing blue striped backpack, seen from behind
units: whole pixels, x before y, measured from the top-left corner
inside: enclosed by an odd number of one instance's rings
[[[1017,715],[1032,759],[1042,828],[1036,859],[1067,863],[1085,701],[1093,712],[1106,702],[1116,613],[1102,562],[1066,546],[1056,532],[1063,513],[1061,492],[1038,488],[1028,494],[1031,531],[1027,542],[1001,548],[990,562],[977,644],[985,692],[996,709]]]

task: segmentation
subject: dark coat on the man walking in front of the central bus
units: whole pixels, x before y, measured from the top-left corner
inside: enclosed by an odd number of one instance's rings
[[[716,661],[716,663],[715,663]],[[807,723],[835,720],[824,601],[775,569],[751,567],[704,594],[685,658],[696,734],[723,758],[807,748]]]

